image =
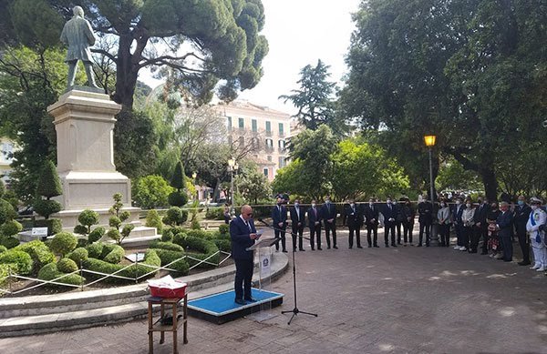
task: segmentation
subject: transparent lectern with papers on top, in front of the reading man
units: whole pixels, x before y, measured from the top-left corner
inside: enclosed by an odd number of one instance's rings
[[[259,238],[248,251],[254,251],[258,258],[258,289],[262,292],[272,291],[272,246],[279,242],[278,238]],[[254,283],[256,284],[256,283]],[[251,317],[257,321],[271,319],[274,315],[269,314],[272,309],[272,302],[263,302],[255,308]]]

